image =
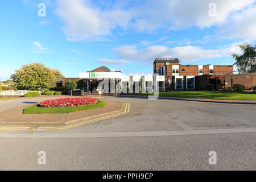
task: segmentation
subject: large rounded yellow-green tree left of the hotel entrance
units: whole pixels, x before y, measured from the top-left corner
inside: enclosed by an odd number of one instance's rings
[[[60,71],[57,73],[42,63],[31,63],[16,69],[15,74],[11,75],[10,78],[18,88],[40,90],[42,88],[54,88],[60,74]]]

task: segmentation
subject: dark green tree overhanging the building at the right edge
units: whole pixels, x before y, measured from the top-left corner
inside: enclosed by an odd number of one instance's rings
[[[256,44],[242,44],[239,46],[243,51],[242,55],[232,53],[236,60],[234,65],[237,65],[239,73],[254,73],[256,72]]]

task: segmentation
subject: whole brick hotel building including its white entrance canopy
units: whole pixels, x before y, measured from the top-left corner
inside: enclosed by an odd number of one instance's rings
[[[183,65],[177,58],[156,58],[153,75],[123,75],[121,71],[110,71],[102,66],[92,71],[79,73],[79,78],[64,78],[77,82],[77,88],[86,93],[95,93],[102,80],[121,82],[121,88],[133,88],[138,92],[148,90],[199,90],[207,84],[222,89],[233,84],[244,84],[247,88],[256,85],[256,75],[234,75],[233,65]],[[109,85],[109,91],[111,88]],[[137,93],[138,93],[137,92]]]

